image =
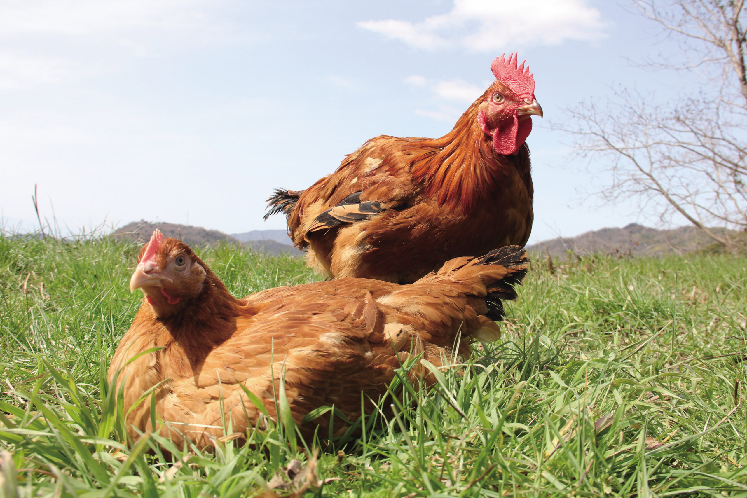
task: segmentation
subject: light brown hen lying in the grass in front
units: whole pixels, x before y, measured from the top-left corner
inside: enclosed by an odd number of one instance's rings
[[[155,431],[201,447],[224,424],[242,433],[258,422],[244,388],[273,419],[284,385],[298,424],[325,405],[355,420],[361,393],[378,399],[411,355],[443,366],[472,340],[497,338],[501,299],[515,299],[528,262],[524,249],[504,247],[448,261],[415,284],[340,278],[235,299],[185,243],[159,231],[138,261],[130,289],[145,299],[109,380],[123,392],[131,438]],[[329,414],[301,429],[311,435],[328,424]]]

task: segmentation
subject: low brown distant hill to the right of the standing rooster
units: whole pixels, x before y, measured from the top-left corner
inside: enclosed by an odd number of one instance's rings
[[[713,228],[723,234],[725,228]],[[731,231],[730,231],[731,232]],[[733,233],[733,232],[731,232]],[[663,254],[684,254],[712,246],[713,240],[694,226],[681,226],[671,230],[657,230],[637,223],[623,228],[602,228],[587,231],[577,237],[557,237],[527,246],[529,252],[549,252],[553,256],[573,250],[577,255],[592,252],[601,254],[626,254],[657,256]]]

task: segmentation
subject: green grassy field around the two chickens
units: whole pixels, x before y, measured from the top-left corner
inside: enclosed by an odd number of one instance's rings
[[[362,437],[307,447],[281,423],[166,458],[121,444],[104,380],[137,249],[0,236],[0,497],[747,496],[746,258],[537,261],[503,339],[437,390],[397,381]],[[240,296],[315,278],[198,252]]]

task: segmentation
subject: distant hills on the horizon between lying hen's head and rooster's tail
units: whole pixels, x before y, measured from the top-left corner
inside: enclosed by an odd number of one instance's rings
[[[183,240],[190,246],[204,246],[220,242],[243,243],[245,246],[249,246],[256,251],[264,252],[268,255],[276,256],[281,253],[288,253],[291,256],[303,255],[303,252],[299,251],[294,246],[291,246],[288,243],[281,243],[270,237],[265,237],[264,240],[261,238],[245,237],[244,240],[242,240],[239,237],[224,234],[222,231],[208,230],[207,228],[192,225],[179,225],[177,223],[152,223],[145,220],[134,221],[117,228],[117,230],[114,231],[114,234],[120,237],[129,238],[137,243],[146,243],[156,228],[161,230],[161,233],[163,233],[164,236]],[[260,231],[250,231],[247,232],[247,234],[253,234],[255,232]],[[282,230],[266,230],[266,232],[279,232],[285,234],[285,231]],[[285,242],[290,242],[288,235],[285,235]]]

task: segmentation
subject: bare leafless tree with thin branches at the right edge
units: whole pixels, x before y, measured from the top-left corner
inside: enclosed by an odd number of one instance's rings
[[[744,0],[631,1],[681,48],[675,57],[645,65],[696,71],[713,90],[666,105],[617,90],[607,102],[569,109],[571,124],[556,128],[575,135],[580,155],[607,160],[612,181],[600,192],[605,199],[632,196],[654,205],[661,217],[681,214],[734,249],[728,231],[711,227],[747,231]]]

